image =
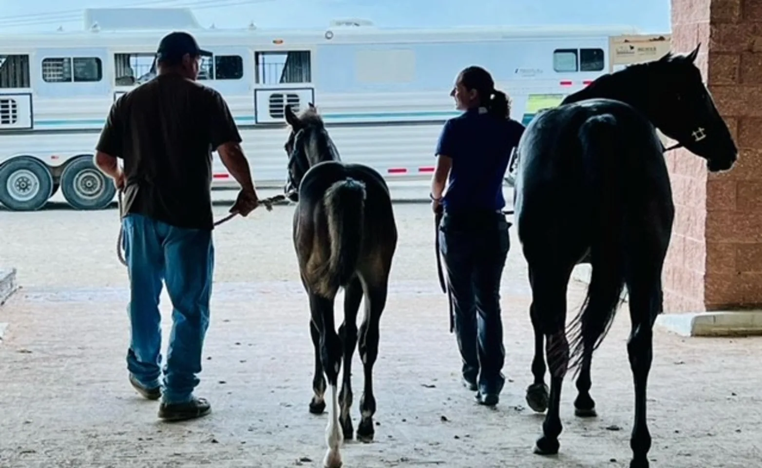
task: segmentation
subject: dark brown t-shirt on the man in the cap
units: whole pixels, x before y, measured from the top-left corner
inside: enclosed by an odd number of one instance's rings
[[[213,229],[212,151],[228,142],[241,136],[219,92],[166,74],[114,102],[96,149],[124,161],[123,216]]]

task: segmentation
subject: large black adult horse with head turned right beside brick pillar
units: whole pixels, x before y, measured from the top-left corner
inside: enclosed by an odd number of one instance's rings
[[[537,454],[559,450],[562,381],[580,364],[575,413],[595,415],[592,354],[613,322],[626,285],[632,321],[627,351],[636,395],[630,466],[648,466],[646,382],[674,220],[664,146],[655,129],[706,159],[709,171],[732,168],[738,156],[693,64],[698,51],[668,53],[601,76],[539,114],[519,143],[514,206],[529,267],[535,332],[534,383],[527,402],[537,412],[548,410]],[[591,264],[591,281],[567,340],[568,280],[580,263]]]

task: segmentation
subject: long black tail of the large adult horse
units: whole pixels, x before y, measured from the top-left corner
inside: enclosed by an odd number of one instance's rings
[[[579,130],[582,165],[590,200],[597,200],[590,248],[592,267],[588,292],[568,326],[569,369],[579,370],[587,347],[591,354],[604,341],[622,299],[625,284],[626,173],[619,158],[616,117],[590,117]]]

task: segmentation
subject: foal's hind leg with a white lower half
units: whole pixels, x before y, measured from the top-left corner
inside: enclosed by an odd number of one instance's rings
[[[325,468],[341,466],[341,442],[343,441],[338,422],[338,373],[341,370],[341,338],[338,337],[334,323],[334,300],[309,294],[309,306],[312,309],[312,321],[320,330],[320,361],[323,372],[331,387],[331,402],[328,405],[328,425],[325,428],[325,443],[328,450],[323,464]]]

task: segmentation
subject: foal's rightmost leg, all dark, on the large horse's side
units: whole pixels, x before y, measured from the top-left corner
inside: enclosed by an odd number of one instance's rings
[[[360,325],[360,359],[363,361],[364,388],[360,398],[360,425],[357,440],[373,440],[373,415],[376,414],[376,397],[373,396],[373,364],[379,354],[379,325],[381,313],[386,306],[387,283],[365,285],[365,317]]]

